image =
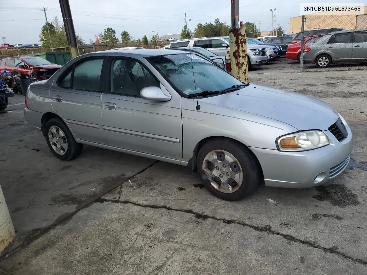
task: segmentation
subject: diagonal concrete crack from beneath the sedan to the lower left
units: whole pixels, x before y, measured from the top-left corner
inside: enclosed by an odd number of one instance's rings
[[[139,172],[135,173],[134,175],[131,175],[130,177],[128,177],[126,179],[126,181],[131,180],[133,177],[143,173],[146,169],[149,169],[150,167],[152,167],[153,165],[155,165],[157,162],[159,161],[155,161],[152,164],[150,164],[149,166],[147,166],[146,168],[140,170]],[[124,181],[124,182],[126,182]],[[119,184],[120,185],[120,190],[122,192],[122,183]],[[99,196],[97,199],[87,203],[86,205],[84,205],[83,207],[76,209],[74,212],[70,212],[69,215],[65,215],[63,216],[63,219],[58,219],[56,220],[54,223],[52,223],[51,225],[47,226],[47,227],[41,227],[41,228],[36,228],[34,230],[32,230],[26,237],[25,237],[25,241],[23,241],[22,243],[20,243],[17,247],[14,247],[12,250],[10,250],[7,253],[4,253],[3,255],[0,256],[0,260],[3,260],[4,258],[10,256],[11,254],[14,254],[15,252],[17,252],[19,249],[22,249],[23,247],[27,246],[29,243],[31,243],[32,241],[38,239],[40,236],[42,236],[43,234],[45,234],[48,230],[50,230],[52,227],[59,225],[61,223],[64,223],[65,221],[71,219],[76,213],[78,213],[81,209],[84,209],[90,205],[92,205],[94,202],[98,201],[98,199],[101,199],[101,197],[103,197],[104,195],[108,194],[109,192],[111,192],[113,189],[115,189],[117,186],[113,187],[111,190],[108,190],[107,192],[105,192],[104,194],[101,194],[101,196]],[[119,193],[119,199],[121,197],[121,192]],[[66,213],[68,214],[68,213]]]

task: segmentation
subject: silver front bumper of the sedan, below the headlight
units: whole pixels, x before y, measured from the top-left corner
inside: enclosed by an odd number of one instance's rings
[[[346,139],[339,142],[330,131],[324,131],[330,144],[314,150],[283,152],[250,147],[260,162],[265,185],[309,188],[324,184],[342,173],[348,166],[353,146],[352,132],[344,120],[343,123],[348,132]],[[320,173],[321,176],[317,177]]]

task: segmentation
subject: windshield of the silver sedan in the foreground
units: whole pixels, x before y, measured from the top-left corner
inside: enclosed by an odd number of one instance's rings
[[[233,85],[243,84],[225,70],[196,54],[160,55],[152,56],[148,60],[185,95],[222,91]]]

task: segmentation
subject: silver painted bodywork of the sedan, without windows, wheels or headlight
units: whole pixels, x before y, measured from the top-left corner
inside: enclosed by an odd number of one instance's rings
[[[98,106],[96,102],[83,104],[86,99],[80,96],[84,94],[69,90],[69,94],[65,95],[66,102],[59,104],[56,111],[50,89],[52,94],[53,90],[57,91],[55,80],[68,69],[70,63],[85,57],[79,56],[70,60],[49,80],[30,85],[26,95],[28,108],[24,109],[25,118],[30,124],[41,128],[44,114],[57,114],[79,143],[184,166],[188,165],[201,140],[228,137],[250,148],[261,165],[268,186],[312,187],[325,183],[345,169],[352,151],[352,133],[342,117],[348,132],[346,139],[339,142],[328,130],[339,118],[339,114],[328,104],[296,92],[253,84],[197,101],[195,98],[184,98],[145,59],[166,53],[182,54],[182,51],[115,50],[88,56],[112,55],[137,59],[160,81],[161,90],[171,95],[170,101],[149,102],[141,98],[101,93]],[[77,113],[69,107],[70,102],[80,106],[83,112]],[[115,102],[116,110],[105,109],[104,102]],[[199,111],[196,110],[197,102],[201,106]],[[96,113],[90,115],[89,109],[99,109],[101,120]],[[330,144],[302,152],[277,150],[278,137],[310,129],[323,131]],[[87,136],[88,133],[90,136]],[[99,136],[101,140],[96,141]],[[320,172],[326,172],[328,176],[314,183]]]

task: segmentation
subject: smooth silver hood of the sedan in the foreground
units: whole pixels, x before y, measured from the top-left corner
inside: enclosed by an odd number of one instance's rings
[[[229,113],[231,110],[239,110],[281,121],[299,131],[313,129],[326,131],[339,117],[333,108],[319,99],[253,84],[200,101],[225,107]],[[240,118],[246,119],[246,115]]]

